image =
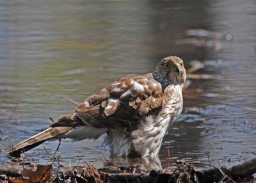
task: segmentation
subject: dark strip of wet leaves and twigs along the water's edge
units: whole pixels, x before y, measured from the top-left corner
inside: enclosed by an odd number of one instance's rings
[[[84,162],[86,163],[86,162]],[[216,167],[212,164],[177,161],[177,166],[161,171],[146,171],[140,165],[96,169],[92,164],[85,167],[58,168],[52,165],[29,164],[24,168],[0,168],[3,182],[253,182],[256,158],[232,168]],[[195,168],[195,164],[211,166],[209,170]]]

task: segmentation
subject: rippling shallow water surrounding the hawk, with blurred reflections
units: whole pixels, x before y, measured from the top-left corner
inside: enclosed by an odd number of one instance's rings
[[[46,129],[117,77],[184,60],[184,111],[164,137],[162,166],[175,159],[232,166],[256,154],[256,2],[0,1],[0,163],[5,149]],[[27,158],[46,163],[58,141]],[[169,154],[168,154],[169,152]],[[57,156],[98,168],[97,141],[65,139]]]

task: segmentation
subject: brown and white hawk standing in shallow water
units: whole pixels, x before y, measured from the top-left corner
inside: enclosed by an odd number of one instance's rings
[[[19,156],[46,140],[97,139],[106,133],[104,144],[114,156],[157,156],[164,134],[182,111],[185,81],[183,61],[168,56],[150,74],[116,79],[85,99],[74,113],[6,152]]]

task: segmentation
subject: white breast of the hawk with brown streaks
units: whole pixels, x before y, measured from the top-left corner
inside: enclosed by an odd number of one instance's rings
[[[181,87],[174,87],[173,91],[175,95],[180,95],[179,100],[182,102]],[[180,110],[175,110],[179,104],[173,105],[175,99],[171,99],[166,106],[161,109],[159,115],[154,118],[154,116],[147,116],[141,121],[139,129],[132,132],[134,139],[132,140],[134,148],[141,154],[141,156],[153,157],[159,153],[163,137],[168,130],[168,127],[172,125],[173,122],[179,117],[182,106]],[[177,113],[173,115],[173,113]],[[171,118],[171,115],[175,118]]]

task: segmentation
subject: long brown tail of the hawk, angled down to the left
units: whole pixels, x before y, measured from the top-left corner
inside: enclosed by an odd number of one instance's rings
[[[72,127],[50,127],[49,129],[18,143],[12,148],[9,148],[8,150],[6,150],[6,152],[12,156],[19,157],[22,152],[26,152],[49,139],[57,139],[57,136],[65,134],[71,130]]]

